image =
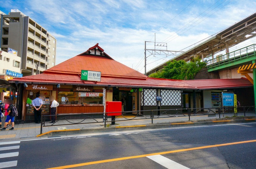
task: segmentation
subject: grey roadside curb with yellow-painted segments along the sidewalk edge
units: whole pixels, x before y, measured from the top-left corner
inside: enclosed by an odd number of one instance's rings
[[[157,128],[171,128],[171,127],[191,127],[191,126],[202,126],[202,125],[219,125],[219,124],[230,124],[230,123],[246,123],[256,121],[255,117],[247,117],[248,119],[214,119],[204,121],[186,121],[176,123],[163,123],[163,124],[149,124],[149,125],[133,125],[133,126],[116,126],[107,128],[97,129],[71,129],[71,130],[52,130],[36,137],[48,136],[56,137],[61,135],[74,135],[74,134],[89,134],[89,133],[104,133],[104,132],[118,132],[118,131],[129,131],[129,130],[145,130],[145,129],[157,129]]]

